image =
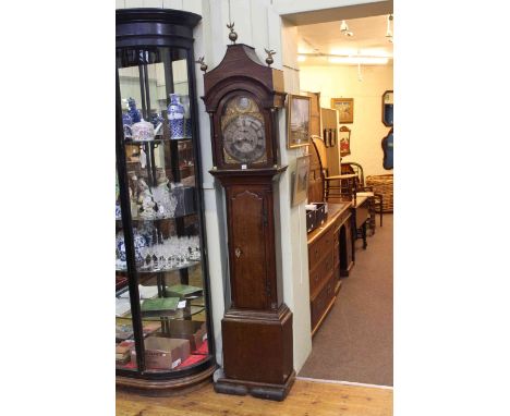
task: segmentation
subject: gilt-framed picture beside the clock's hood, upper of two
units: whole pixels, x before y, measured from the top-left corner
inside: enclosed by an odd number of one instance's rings
[[[309,97],[289,94],[287,147],[309,145]]]

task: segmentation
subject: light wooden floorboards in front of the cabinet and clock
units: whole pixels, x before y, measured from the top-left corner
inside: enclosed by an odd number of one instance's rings
[[[218,394],[208,383],[173,397],[117,392],[118,416],[390,416],[393,391],[296,380],[283,402]]]

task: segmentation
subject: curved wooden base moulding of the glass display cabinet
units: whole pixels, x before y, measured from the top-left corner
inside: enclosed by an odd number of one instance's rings
[[[174,380],[147,380],[132,377],[117,376],[118,389],[130,391],[142,395],[166,395],[183,394],[211,382],[211,376],[216,365],[210,366],[202,372],[193,376],[178,378]]]

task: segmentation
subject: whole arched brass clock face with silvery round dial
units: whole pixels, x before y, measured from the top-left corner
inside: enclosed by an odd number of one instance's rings
[[[227,163],[266,162],[264,117],[250,97],[231,98],[221,117],[223,159]]]

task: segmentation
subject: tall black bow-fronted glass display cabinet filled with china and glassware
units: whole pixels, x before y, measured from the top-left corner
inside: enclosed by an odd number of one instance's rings
[[[120,386],[182,388],[215,370],[193,27],[117,11],[116,368]]]

